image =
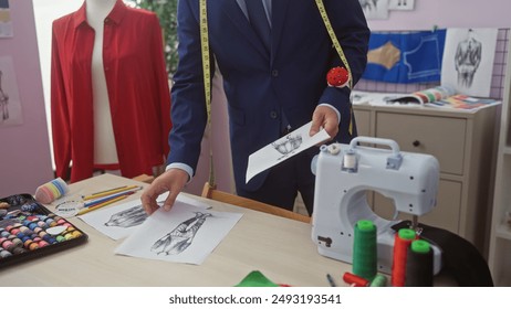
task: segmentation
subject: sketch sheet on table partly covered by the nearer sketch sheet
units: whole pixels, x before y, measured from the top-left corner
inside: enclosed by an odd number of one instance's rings
[[[163,205],[168,192],[158,196],[157,202]],[[207,204],[195,201],[184,194],[177,196],[177,201],[189,203],[197,207],[207,209]],[[114,241],[129,236],[144,221],[147,214],[142,207],[139,200],[125,202],[115,206],[104,207],[97,211],[80,215],[79,219],[96,228]]]

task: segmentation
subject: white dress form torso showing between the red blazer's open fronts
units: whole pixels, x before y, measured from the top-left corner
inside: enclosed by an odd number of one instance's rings
[[[116,0],[85,0],[86,19],[94,29],[94,49],[92,53],[92,90],[94,108],[94,164],[118,163],[112,114],[103,65],[103,33],[105,18],[112,11]]]

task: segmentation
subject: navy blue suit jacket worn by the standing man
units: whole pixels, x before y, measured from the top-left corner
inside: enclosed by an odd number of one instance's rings
[[[342,62],[315,1],[272,2],[272,46],[268,53],[237,1],[207,1],[211,58],[215,56],[222,73],[228,99],[236,185],[249,191],[258,189],[267,173],[246,184],[248,158],[280,137],[282,110],[290,125],[299,128],[311,121],[319,104],[331,104],[341,113],[335,140],[348,142],[352,138],[350,89],[326,85],[326,73]],[[356,82],[366,65],[369,38],[358,0],[324,0],[324,4]],[[207,124],[199,0],[179,1],[178,40],[167,162],[186,163],[195,170]]]

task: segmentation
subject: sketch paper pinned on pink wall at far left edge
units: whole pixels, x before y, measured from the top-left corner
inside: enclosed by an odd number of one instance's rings
[[[21,125],[21,103],[11,56],[0,56],[0,127]]]

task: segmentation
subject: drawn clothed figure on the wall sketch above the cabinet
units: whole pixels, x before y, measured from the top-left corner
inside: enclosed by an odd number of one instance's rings
[[[473,38],[473,31],[468,30],[467,39],[458,43],[455,56],[458,85],[470,88],[473,76],[481,63],[482,44]]]

